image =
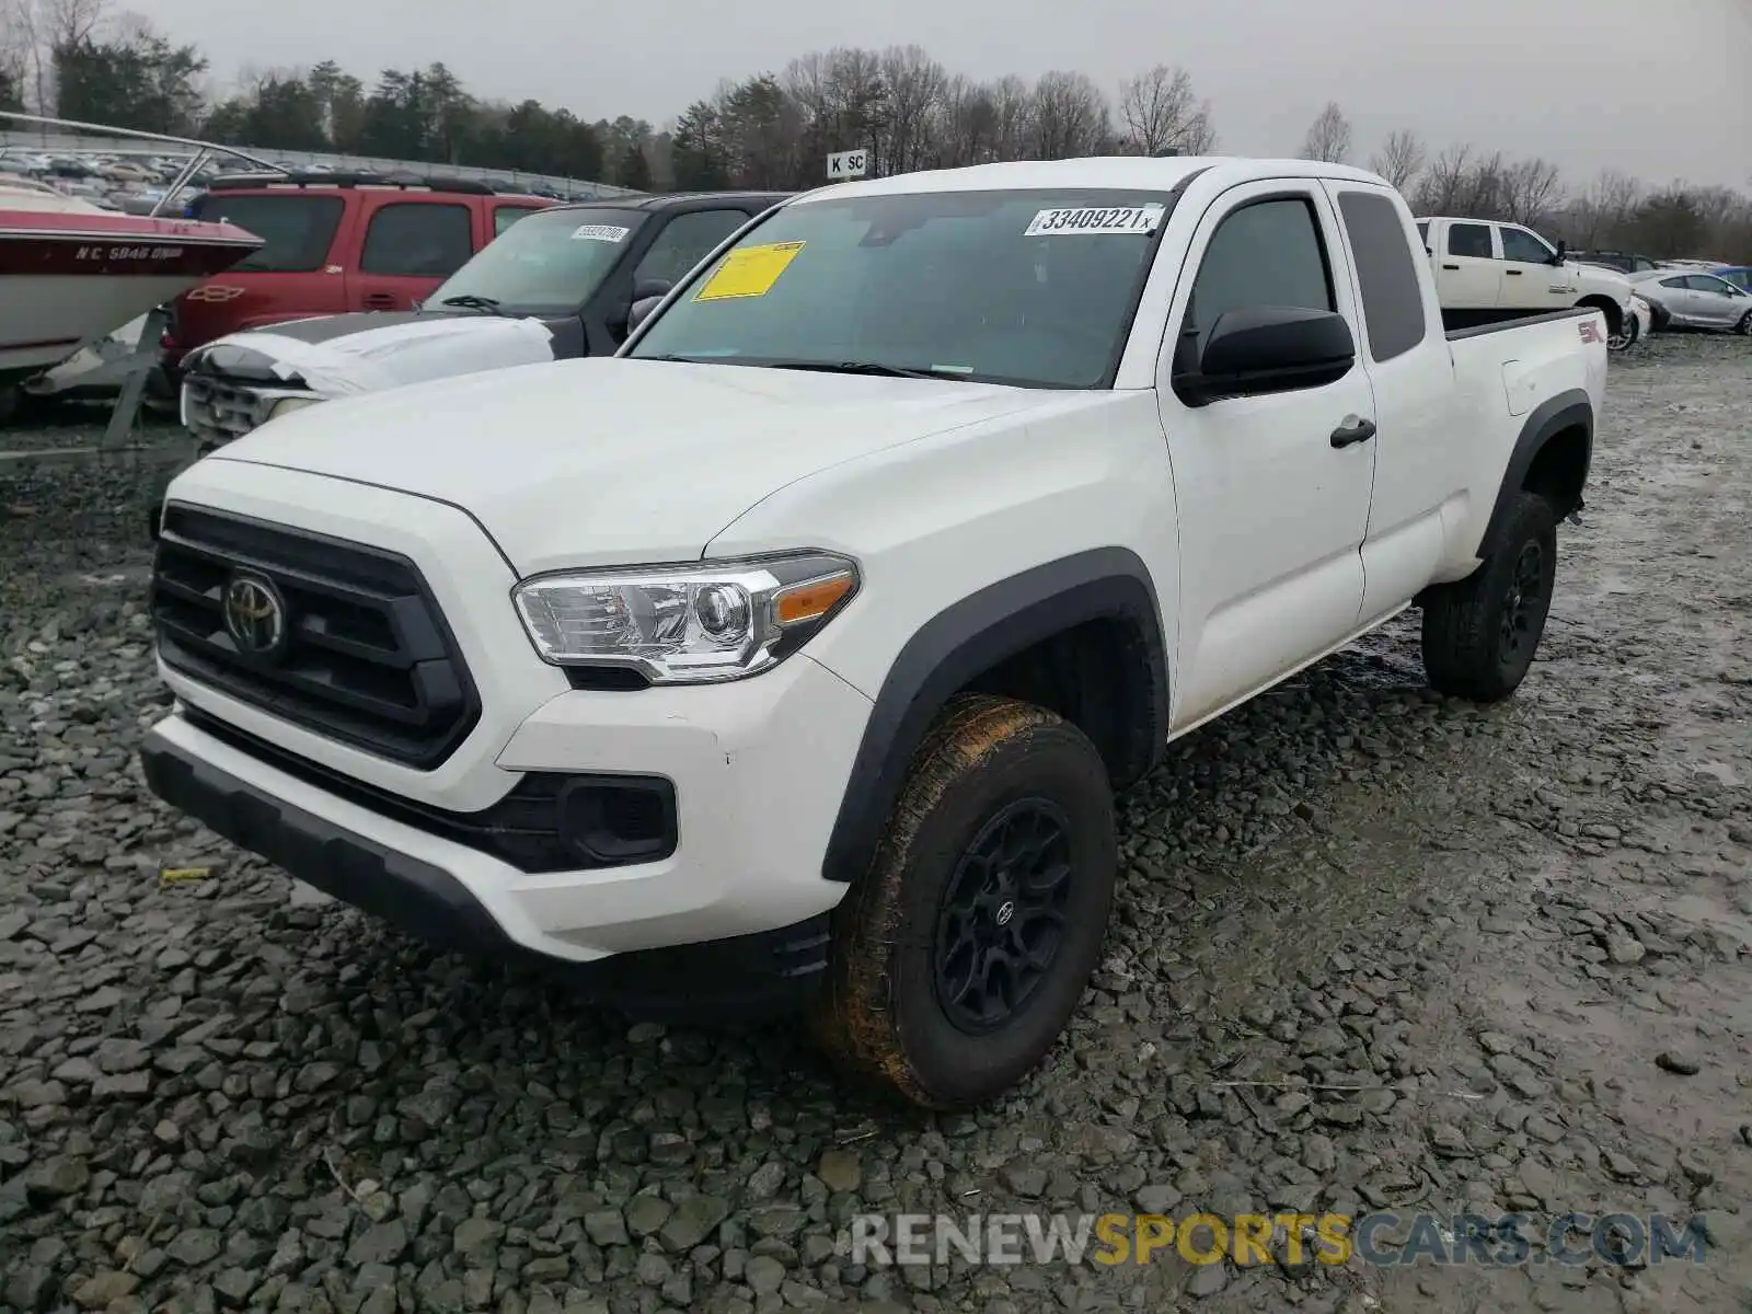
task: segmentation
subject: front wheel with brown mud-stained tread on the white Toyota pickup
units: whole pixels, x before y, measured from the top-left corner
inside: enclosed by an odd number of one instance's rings
[[[1027,703],[953,699],[869,871],[834,909],[818,1042],[922,1107],[1000,1095],[1083,997],[1116,864],[1095,745]]]

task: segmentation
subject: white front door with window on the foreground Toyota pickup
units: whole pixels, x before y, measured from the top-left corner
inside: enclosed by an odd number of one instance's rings
[[[1197,275],[1176,293],[1176,333],[1158,363],[1181,531],[1176,727],[1353,632],[1375,461],[1374,442],[1332,445],[1333,429],[1374,420],[1361,361],[1335,384],[1204,406],[1172,387],[1176,354],[1202,347],[1226,310],[1339,310],[1356,324],[1349,266],[1318,184],[1228,191],[1200,219],[1188,259]]]

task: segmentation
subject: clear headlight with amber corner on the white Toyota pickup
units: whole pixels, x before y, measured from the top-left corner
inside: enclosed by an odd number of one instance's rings
[[[632,668],[657,685],[739,680],[801,648],[858,590],[846,557],[541,575],[512,590],[554,666]]]

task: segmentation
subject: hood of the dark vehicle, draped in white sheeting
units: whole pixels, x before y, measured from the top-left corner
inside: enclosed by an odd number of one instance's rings
[[[349,398],[552,359],[554,335],[540,319],[361,312],[231,333],[194,352],[189,368]]]

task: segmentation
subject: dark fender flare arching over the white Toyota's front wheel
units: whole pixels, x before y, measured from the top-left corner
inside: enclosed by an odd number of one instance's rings
[[[901,648],[864,725],[822,876],[858,880],[901,795],[913,755],[937,711],[1007,657],[1091,620],[1121,618],[1137,638],[1121,704],[1127,718],[1109,762],[1120,783],[1158,760],[1169,732],[1169,666],[1156,585],[1130,548],[1106,547],[1011,575],[927,620]]]

